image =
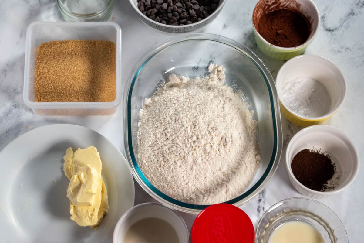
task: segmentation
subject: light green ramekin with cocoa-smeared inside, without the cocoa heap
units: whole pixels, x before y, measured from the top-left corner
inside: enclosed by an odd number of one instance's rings
[[[309,21],[310,34],[305,43],[296,47],[279,47],[266,41],[258,32],[258,24],[261,16],[278,9],[295,9]],[[260,0],[253,11],[253,31],[259,49],[270,58],[288,60],[301,55],[316,37],[320,26],[320,14],[312,0]]]

